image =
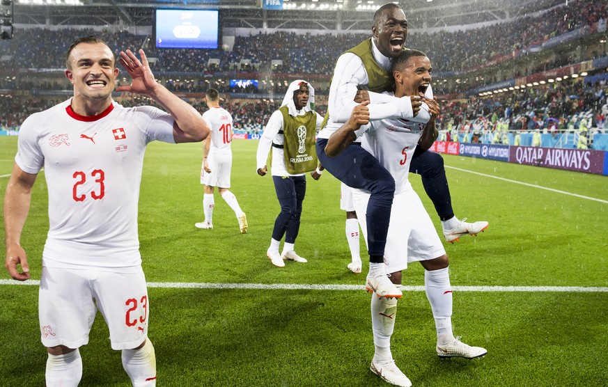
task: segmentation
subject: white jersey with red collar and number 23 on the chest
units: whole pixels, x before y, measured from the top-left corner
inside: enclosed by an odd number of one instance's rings
[[[137,271],[143,154],[150,141],[175,143],[173,118],[116,102],[98,116],[79,116],[70,101],[27,118],[15,156],[26,173],[45,168],[50,228],[42,264]]]

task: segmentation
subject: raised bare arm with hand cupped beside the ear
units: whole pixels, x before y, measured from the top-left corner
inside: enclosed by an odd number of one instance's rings
[[[201,113],[159,84],[150,70],[148,58],[143,49],[139,50],[139,55],[141,61],[129,49],[126,52],[120,52],[120,64],[130,74],[132,83],[130,86],[119,86],[116,91],[148,95],[162,106],[175,120],[173,138],[176,143],[204,140],[209,135],[210,128],[203,120]]]

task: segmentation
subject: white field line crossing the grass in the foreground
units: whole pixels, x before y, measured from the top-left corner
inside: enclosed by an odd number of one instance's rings
[[[38,286],[40,281],[0,280],[0,285]],[[149,282],[148,287],[171,289],[254,289],[254,290],[364,290],[363,285],[295,284],[295,283],[196,283],[196,282]],[[407,292],[423,292],[423,286],[402,286]],[[608,287],[584,286],[453,286],[456,292],[575,292],[606,293]]]

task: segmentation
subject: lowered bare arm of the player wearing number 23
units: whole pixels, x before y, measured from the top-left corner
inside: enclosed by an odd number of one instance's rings
[[[4,267],[10,277],[17,281],[25,281],[30,277],[27,256],[21,246],[21,233],[29,213],[31,188],[37,176],[37,174],[22,171],[15,164],[4,195],[4,237],[6,242]],[[21,266],[21,271],[17,266]]]

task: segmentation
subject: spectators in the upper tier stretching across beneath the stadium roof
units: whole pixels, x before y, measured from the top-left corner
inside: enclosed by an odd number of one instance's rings
[[[410,31],[407,46],[421,49],[433,61],[437,72],[461,72],[480,68],[485,63],[540,45],[569,31],[588,29],[587,33],[606,28],[605,1],[571,1],[540,13],[501,24],[464,31],[426,33]],[[62,29],[48,31],[24,29],[15,31],[15,38],[0,42],[2,52],[11,56],[4,68],[63,68],[63,54],[77,36],[93,31]],[[231,50],[218,49],[157,49],[150,37],[132,35],[126,31],[100,33],[110,47],[139,49],[158,58],[157,68],[165,72],[194,72],[212,75],[217,72],[268,72],[270,61],[280,60],[281,72],[295,74],[331,74],[334,60],[346,47],[352,47],[369,37],[366,33],[296,34],[293,31],[254,33],[236,36]],[[53,47],[53,49],[49,49]],[[219,59],[210,63],[212,58]],[[556,62],[556,63],[559,63]]]

